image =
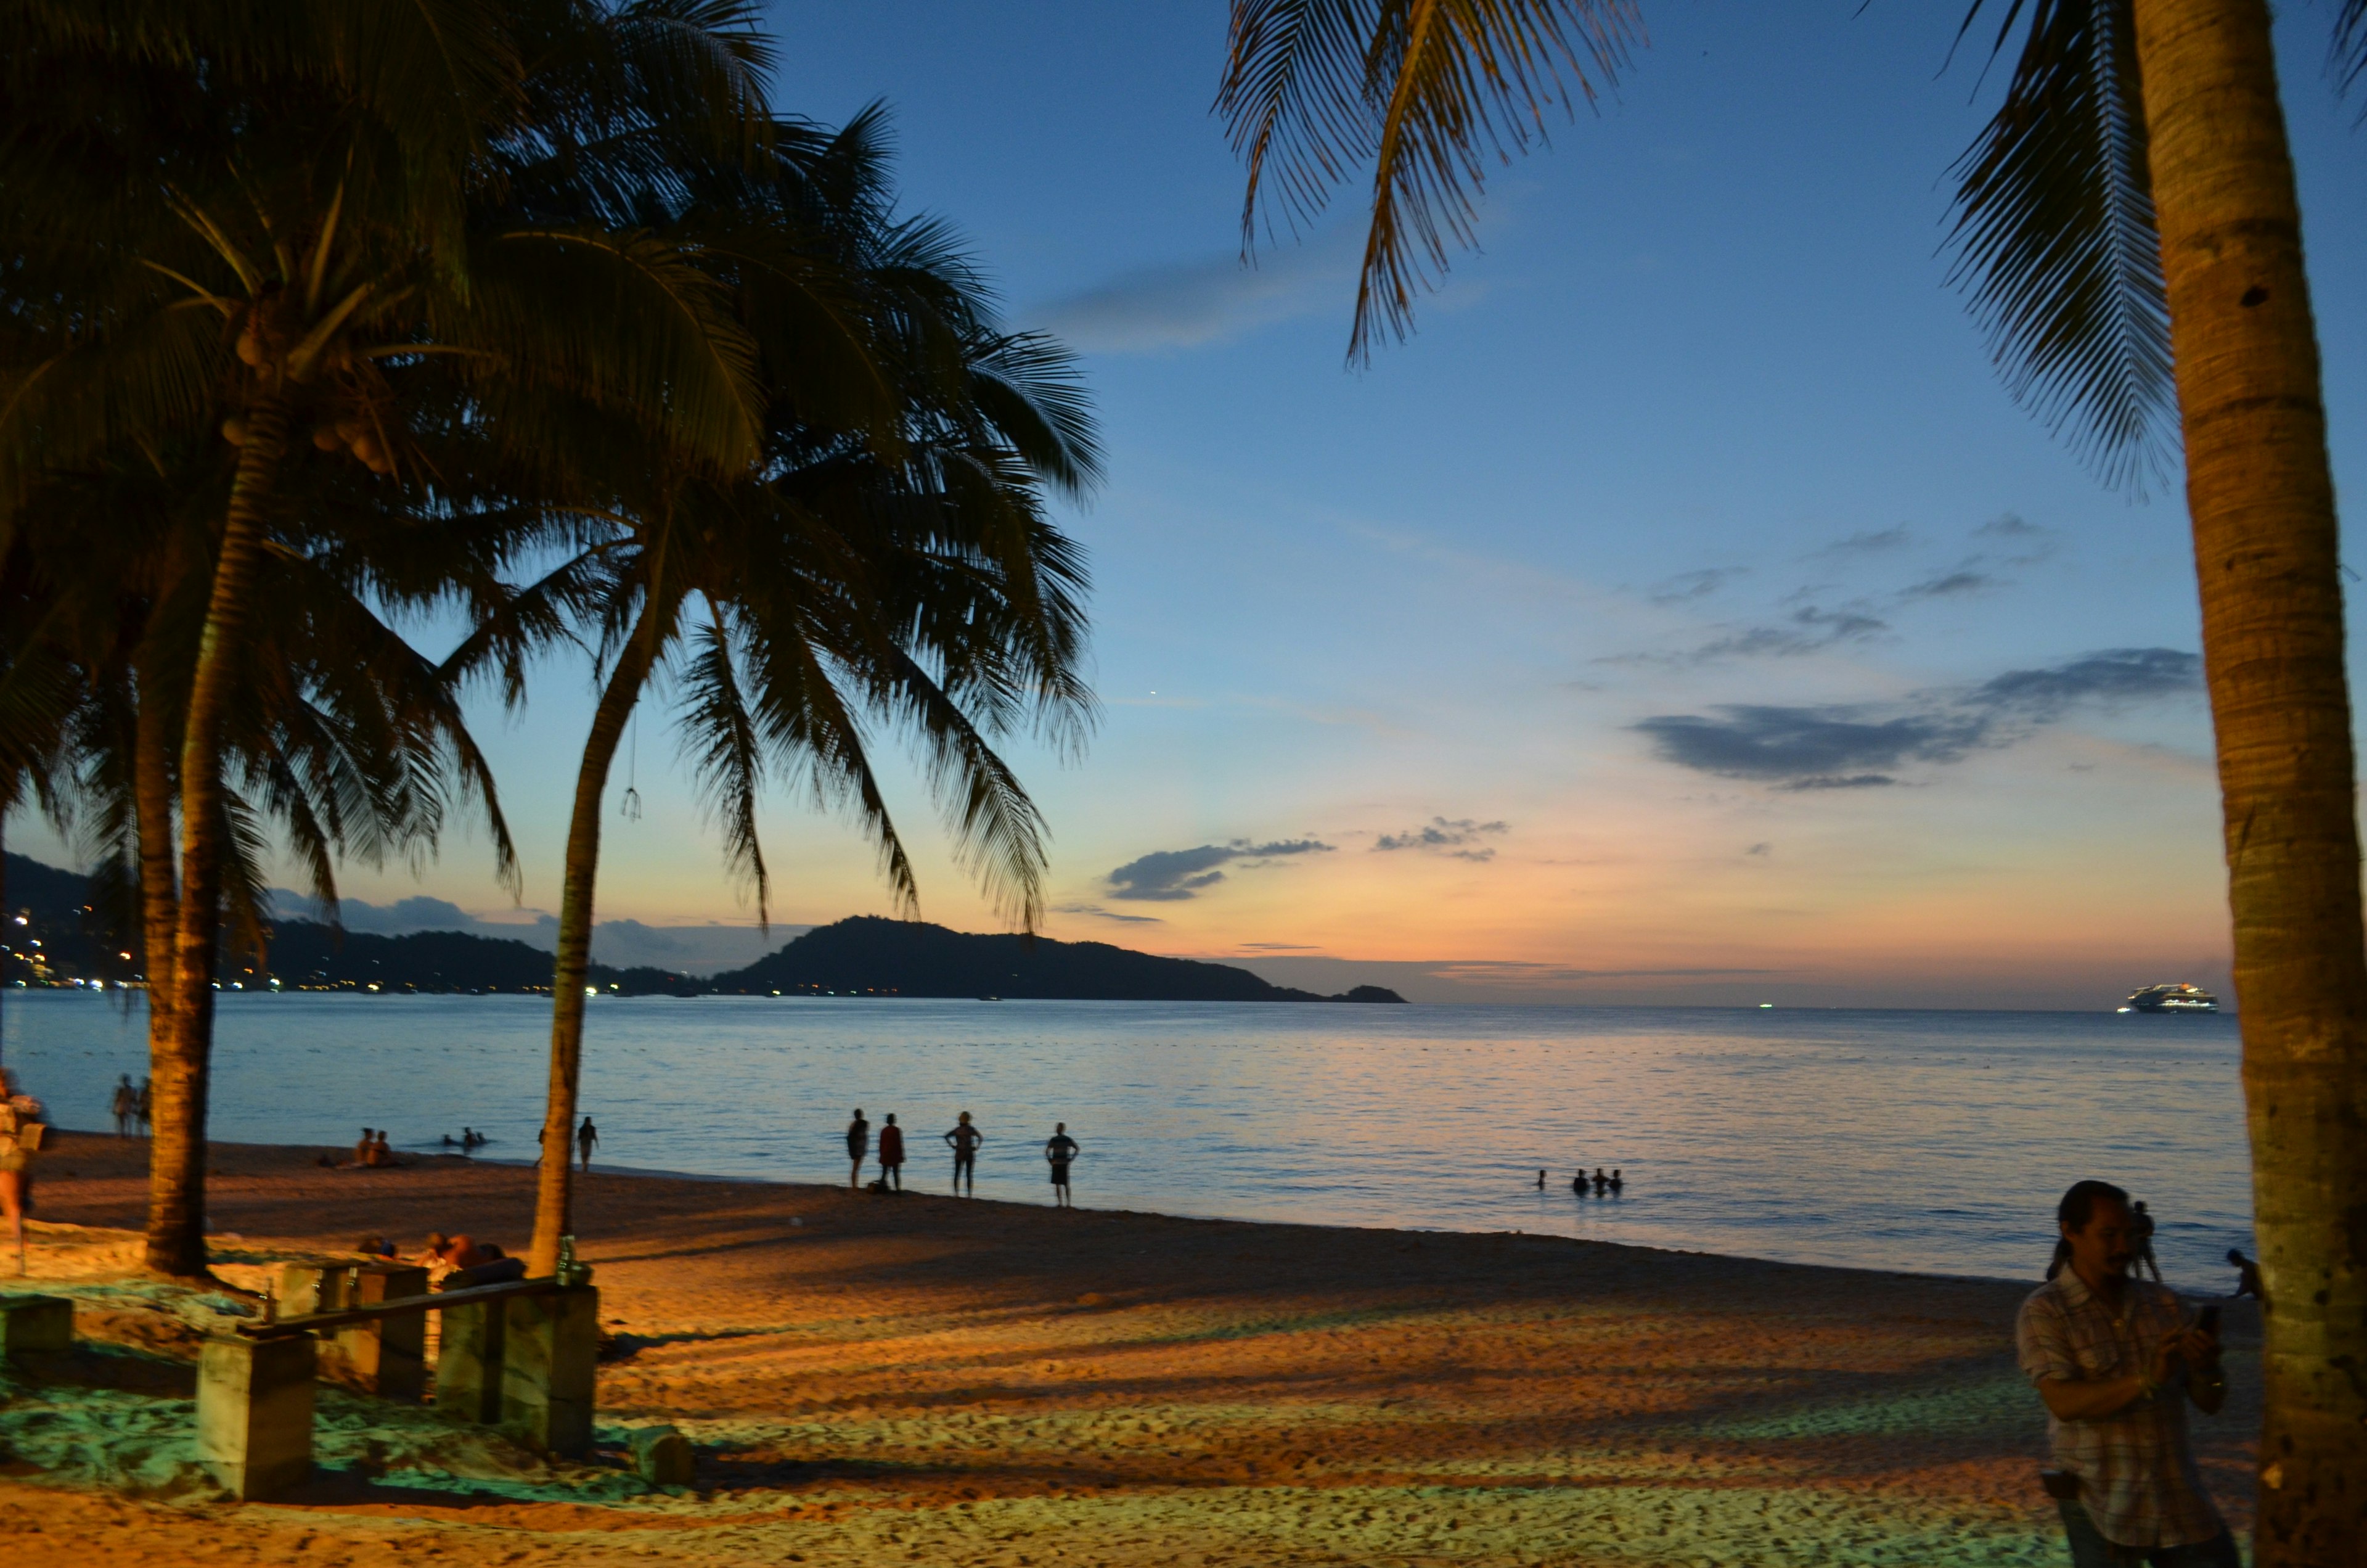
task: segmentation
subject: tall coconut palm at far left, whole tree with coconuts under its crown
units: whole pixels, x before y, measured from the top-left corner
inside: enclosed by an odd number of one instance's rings
[[[0,284],[0,540],[45,474],[213,431],[234,452],[170,767],[175,931],[149,964],[156,1156],[189,1163],[154,1177],[154,1267],[201,1258],[196,1215],[163,1208],[187,1208],[168,1187],[201,1180],[201,1059],[234,853],[222,760],[241,644],[265,561],[291,550],[301,476],[360,469],[436,512],[450,505],[428,464],[438,431],[499,426],[523,450],[552,405],[646,426],[691,467],[750,462],[753,355],[722,291],[634,227],[585,223],[566,201],[525,208],[511,189],[514,175],[563,189],[530,178],[554,137],[535,121],[552,95],[528,92],[528,54],[585,66],[580,97],[672,116],[677,140],[741,135],[724,31],[743,9],[0,7],[0,206],[19,249]],[[599,189],[663,152],[639,137],[556,161]]]

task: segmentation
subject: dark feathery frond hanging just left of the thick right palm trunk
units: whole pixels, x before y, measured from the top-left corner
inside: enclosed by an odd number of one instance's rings
[[[2005,102],[1953,168],[1950,282],[2014,400],[2145,490],[2178,403],[2130,0],[2012,0],[1995,54],[2017,26]]]

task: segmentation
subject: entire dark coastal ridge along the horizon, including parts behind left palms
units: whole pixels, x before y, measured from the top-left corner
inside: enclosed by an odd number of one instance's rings
[[[5,867],[0,983],[118,985],[142,973],[137,926],[111,914],[88,876],[17,853],[7,855]],[[24,926],[14,924],[19,914]],[[225,988],[267,990],[277,981],[282,990],[528,992],[552,985],[552,955],[509,938],[466,931],[381,936],[308,919],[277,919],[270,931],[270,952],[260,964],[253,955],[222,945],[218,976]],[[1169,959],[1108,943],[949,931],[876,914],[817,926],[729,973],[698,978],[672,969],[592,964],[587,978],[625,997],[781,992],[1046,1002],[1404,1002],[1380,985],[1323,997],[1269,985],[1231,964]]]

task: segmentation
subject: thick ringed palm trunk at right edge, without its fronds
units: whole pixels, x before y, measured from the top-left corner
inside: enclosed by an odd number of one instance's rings
[[[2367,945],[2334,478],[2265,0],[2135,0],[2268,1281],[2258,1568],[2367,1561]]]

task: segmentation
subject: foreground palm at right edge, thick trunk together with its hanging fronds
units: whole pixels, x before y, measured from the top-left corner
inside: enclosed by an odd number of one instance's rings
[[[1972,0],[1969,28],[1986,0]],[[1960,166],[1960,277],[2007,386],[2111,478],[2175,403],[2218,732],[2268,1281],[2258,1563],[2367,1542],[2367,940],[2317,334],[2268,0],[2002,0],[2005,107]],[[1591,95],[1624,0],[1233,0],[1219,95],[1283,211],[1375,161],[1352,355],[1468,242],[1482,152]],[[2017,40],[2019,38],[2019,47]],[[2343,0],[2336,76],[2367,66]]]

